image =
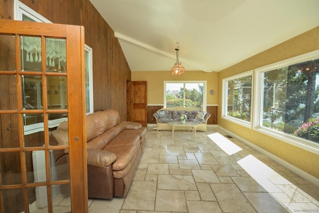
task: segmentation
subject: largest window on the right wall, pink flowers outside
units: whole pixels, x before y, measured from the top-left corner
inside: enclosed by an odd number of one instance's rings
[[[319,51],[256,69],[256,127],[319,148]]]

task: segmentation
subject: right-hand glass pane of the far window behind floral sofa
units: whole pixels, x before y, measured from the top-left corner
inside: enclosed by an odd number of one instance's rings
[[[203,83],[185,84],[185,107],[203,109]]]

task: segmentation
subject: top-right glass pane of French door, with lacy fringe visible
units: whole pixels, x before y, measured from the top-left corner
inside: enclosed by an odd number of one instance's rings
[[[46,38],[46,71],[66,72],[66,42],[60,38]]]

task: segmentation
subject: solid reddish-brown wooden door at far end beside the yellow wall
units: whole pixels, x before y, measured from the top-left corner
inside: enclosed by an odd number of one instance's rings
[[[148,126],[147,81],[131,82],[131,121]]]

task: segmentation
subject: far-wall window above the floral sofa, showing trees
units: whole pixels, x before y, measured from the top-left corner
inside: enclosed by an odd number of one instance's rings
[[[164,81],[164,107],[183,106],[206,111],[206,81]]]

